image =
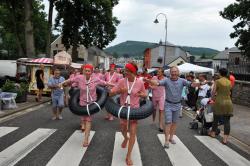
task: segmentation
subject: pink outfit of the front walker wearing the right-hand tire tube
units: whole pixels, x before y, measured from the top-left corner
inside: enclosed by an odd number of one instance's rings
[[[129,82],[129,89],[131,88],[133,82]],[[117,85],[111,90],[113,92],[118,91],[121,87],[127,87],[127,78],[122,78],[119,80]],[[130,94],[130,106],[131,108],[139,108],[140,107],[140,97],[138,96],[138,93],[142,92],[146,94],[146,90],[144,87],[144,82],[138,78],[136,78],[135,84],[132,88],[131,94]],[[120,103],[121,105],[126,105],[125,101],[128,96],[128,93],[122,93],[120,96]],[[132,122],[137,122],[136,120],[132,120]],[[127,120],[121,119],[121,123],[127,123]]]

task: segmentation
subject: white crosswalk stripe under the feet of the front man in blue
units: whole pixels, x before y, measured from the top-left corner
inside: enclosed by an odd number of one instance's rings
[[[158,134],[158,138],[162,144],[165,143],[164,134]],[[181,140],[175,135],[174,140],[175,145],[170,144],[169,149],[165,149],[168,157],[174,166],[183,166],[187,164],[192,166],[201,166],[199,161],[193,156],[193,154],[188,150],[188,148],[181,142]]]

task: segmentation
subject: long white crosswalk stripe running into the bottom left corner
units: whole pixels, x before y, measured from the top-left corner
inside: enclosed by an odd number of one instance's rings
[[[37,129],[15,144],[9,146],[7,149],[0,152],[0,165],[15,165],[55,131],[55,129]]]

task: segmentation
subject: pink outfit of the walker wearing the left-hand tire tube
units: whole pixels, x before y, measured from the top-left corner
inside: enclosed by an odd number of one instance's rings
[[[89,82],[90,81],[90,82]],[[86,80],[84,75],[78,75],[76,77],[70,78],[70,82],[77,83],[78,87],[80,88],[80,105],[86,106],[87,105],[87,83],[89,82],[89,103],[96,101],[96,86],[97,85],[106,85],[106,82],[99,79],[98,77],[91,75],[90,80]],[[92,100],[91,100],[92,99]],[[90,116],[83,116],[83,121],[91,121]]]

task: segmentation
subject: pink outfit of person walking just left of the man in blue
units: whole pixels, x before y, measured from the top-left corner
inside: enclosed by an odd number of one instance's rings
[[[163,78],[164,79],[164,78]],[[157,76],[154,76],[152,80],[159,81]],[[160,111],[164,110],[164,103],[165,103],[165,87],[164,86],[152,86],[152,102],[154,105],[154,109],[157,109],[157,106],[159,107]]]

